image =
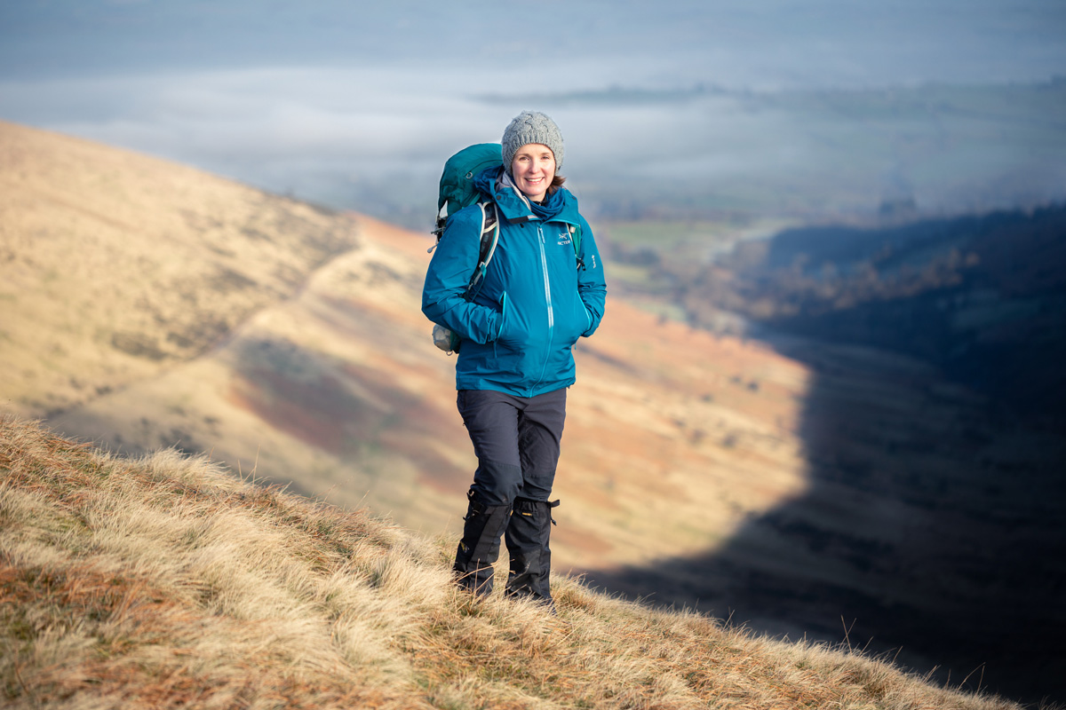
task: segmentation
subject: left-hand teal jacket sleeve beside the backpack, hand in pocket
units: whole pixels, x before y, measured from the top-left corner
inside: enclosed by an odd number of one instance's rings
[[[425,274],[422,313],[464,340],[485,344],[499,336],[502,317],[496,309],[465,298],[480,249],[481,210],[474,205],[448,220]]]

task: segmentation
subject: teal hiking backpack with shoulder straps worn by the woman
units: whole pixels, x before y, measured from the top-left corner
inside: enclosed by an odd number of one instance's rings
[[[445,162],[440,174],[440,187],[437,191],[437,224],[431,232],[437,237],[427,251],[433,251],[445,235],[448,217],[471,204],[481,208],[481,249],[478,255],[478,266],[467,284],[466,299],[471,300],[478,295],[479,284],[488,269],[488,263],[496,253],[496,245],[500,242],[500,217],[496,204],[481,201],[482,195],[473,186],[473,179],[485,168],[503,165],[503,147],[498,143],[478,143],[458,151]],[[581,253],[581,229],[570,227],[574,253]],[[578,266],[582,266],[578,257]],[[445,328],[434,325],[433,344],[445,352],[458,352],[461,340],[458,335]]]

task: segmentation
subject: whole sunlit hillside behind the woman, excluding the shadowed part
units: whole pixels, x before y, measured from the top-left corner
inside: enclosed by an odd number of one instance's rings
[[[207,451],[457,530],[475,462],[454,359],[419,311],[427,235],[61,136],[3,135],[18,155],[0,198],[14,254],[5,407],[116,451]],[[560,568],[712,550],[803,489],[796,363],[617,301],[578,359]]]

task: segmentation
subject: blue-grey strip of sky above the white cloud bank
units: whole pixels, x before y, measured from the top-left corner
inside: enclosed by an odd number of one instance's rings
[[[404,67],[462,89],[706,81],[729,86],[1047,79],[1061,0],[10,0],[9,80],[256,67]],[[461,64],[469,62],[470,69]],[[561,76],[562,75],[562,76]]]

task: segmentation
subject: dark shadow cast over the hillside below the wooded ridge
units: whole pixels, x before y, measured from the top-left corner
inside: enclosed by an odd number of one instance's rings
[[[1062,428],[903,357],[768,340],[812,373],[805,494],[706,555],[587,571],[589,584],[886,654],[952,687],[1066,699]]]

